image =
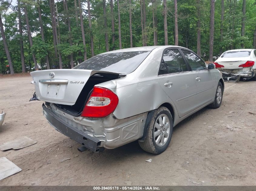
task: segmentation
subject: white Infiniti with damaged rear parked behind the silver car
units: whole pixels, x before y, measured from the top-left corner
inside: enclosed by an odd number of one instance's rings
[[[228,50],[215,60],[216,68],[220,70],[225,81],[256,80],[256,50]]]

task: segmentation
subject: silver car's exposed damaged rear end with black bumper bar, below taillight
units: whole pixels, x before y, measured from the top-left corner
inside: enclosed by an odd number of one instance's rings
[[[53,103],[43,104],[43,114],[51,126],[91,151],[113,149],[143,136],[148,112],[125,119],[72,116]],[[78,149],[79,150],[79,149]]]

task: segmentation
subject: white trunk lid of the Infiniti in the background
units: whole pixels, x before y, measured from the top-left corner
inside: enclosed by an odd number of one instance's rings
[[[243,67],[238,67],[241,64],[244,64],[248,60],[251,60],[250,56],[247,57],[236,57],[236,58],[220,58],[216,60],[218,64],[223,65],[223,69],[239,69]]]

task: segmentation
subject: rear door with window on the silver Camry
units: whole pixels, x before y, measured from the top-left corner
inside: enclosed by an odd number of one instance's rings
[[[158,80],[166,94],[175,103],[179,117],[195,110],[196,82],[177,48],[165,49]]]

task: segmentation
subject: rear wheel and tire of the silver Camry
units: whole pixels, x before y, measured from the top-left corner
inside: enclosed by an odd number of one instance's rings
[[[161,106],[155,110],[148,125],[145,141],[139,141],[139,145],[144,151],[160,154],[168,147],[172,131],[173,120],[171,112],[166,107]]]

